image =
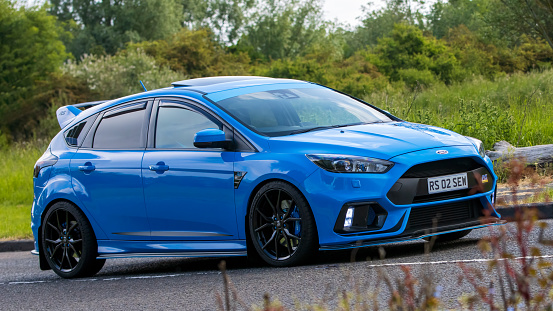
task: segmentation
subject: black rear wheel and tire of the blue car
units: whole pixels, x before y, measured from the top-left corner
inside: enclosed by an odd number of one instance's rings
[[[69,202],[57,202],[42,223],[42,249],[48,265],[62,278],[92,276],[104,266],[96,259],[98,244],[84,213]]]

